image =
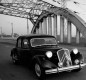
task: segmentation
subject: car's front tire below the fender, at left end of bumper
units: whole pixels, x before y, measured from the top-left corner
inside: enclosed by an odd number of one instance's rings
[[[34,64],[34,71],[39,80],[45,80],[45,71],[39,63]]]

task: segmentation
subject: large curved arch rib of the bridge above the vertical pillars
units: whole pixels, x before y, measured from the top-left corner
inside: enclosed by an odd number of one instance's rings
[[[78,15],[76,15],[74,12],[72,12],[69,9],[64,9],[61,7],[52,7],[47,9],[47,11],[44,11],[37,19],[35,25],[33,26],[33,29],[31,31],[31,33],[35,33],[36,29],[39,28],[39,23],[43,20],[43,18],[47,17],[48,15],[60,15],[61,17],[65,17],[69,22],[73,23],[77,30],[82,33],[82,35],[86,38],[86,23],[84,20],[82,20]],[[70,34],[71,35],[71,34]],[[69,38],[70,38],[69,35]],[[78,33],[79,35],[79,33]],[[62,36],[63,38],[63,36]],[[79,38],[77,38],[78,40]],[[62,39],[63,42],[63,39]],[[79,42],[79,41],[78,41]],[[69,39],[69,43],[70,43],[70,39]]]

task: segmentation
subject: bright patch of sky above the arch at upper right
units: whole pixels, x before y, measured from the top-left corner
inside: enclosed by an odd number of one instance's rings
[[[73,1],[76,1],[78,3],[74,4]],[[86,22],[86,0],[68,1],[67,7],[72,11],[78,12],[76,14],[79,15]]]

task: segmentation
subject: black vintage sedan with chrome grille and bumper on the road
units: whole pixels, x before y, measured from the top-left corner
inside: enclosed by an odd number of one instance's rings
[[[51,35],[25,35],[17,38],[16,47],[11,50],[14,64],[30,64],[38,78],[64,71],[80,71],[86,64],[77,48],[69,51],[58,46]]]

